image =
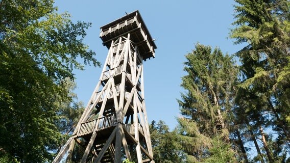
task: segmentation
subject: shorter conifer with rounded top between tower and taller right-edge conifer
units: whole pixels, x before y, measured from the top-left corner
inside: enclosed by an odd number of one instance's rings
[[[181,86],[181,115],[178,119],[182,148],[187,162],[207,161],[215,154],[230,152],[223,162],[235,162],[229,139],[230,111],[233,102],[233,84],[237,67],[232,57],[223,55],[219,48],[196,44],[186,56]],[[223,151],[221,151],[223,150]]]

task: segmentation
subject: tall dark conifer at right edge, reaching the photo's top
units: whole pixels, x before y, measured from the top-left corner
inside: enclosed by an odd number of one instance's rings
[[[237,44],[247,44],[236,53],[241,62],[236,103],[246,111],[244,117],[248,122],[243,123],[262,140],[262,151],[267,157],[260,161],[279,161],[289,152],[290,143],[287,121],[290,115],[290,2],[236,0],[236,3],[233,24],[237,27],[230,37]],[[271,137],[273,131],[276,134]],[[271,147],[273,143],[279,148]]]

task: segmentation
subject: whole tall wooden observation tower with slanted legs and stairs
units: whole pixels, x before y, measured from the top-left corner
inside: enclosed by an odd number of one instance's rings
[[[102,26],[100,37],[109,49],[100,80],[53,162],[71,162],[78,155],[81,162],[119,163],[128,158],[153,163],[143,61],[154,58],[157,47],[139,11]]]

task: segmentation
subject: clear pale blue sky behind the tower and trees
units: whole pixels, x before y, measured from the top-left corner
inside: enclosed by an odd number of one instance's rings
[[[227,39],[234,21],[233,0],[187,0],[187,1],[56,1],[59,12],[67,11],[76,22],[91,22],[85,43],[97,53],[96,59],[104,64],[108,49],[99,38],[100,26],[119,17],[139,10],[147,28],[156,39],[155,59],[144,65],[144,93],[148,119],[163,120],[171,129],[177,125],[183,62],[186,53],[199,42],[220,47],[224,53],[233,54],[241,48]],[[79,100],[87,104],[101,75],[102,67],[86,66],[75,71]]]

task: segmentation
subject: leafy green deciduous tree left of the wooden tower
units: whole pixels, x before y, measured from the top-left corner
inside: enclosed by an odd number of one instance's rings
[[[0,2],[0,158],[47,162],[61,143],[60,103],[71,101],[65,78],[100,65],[83,43],[90,23],[57,14],[53,1]]]

